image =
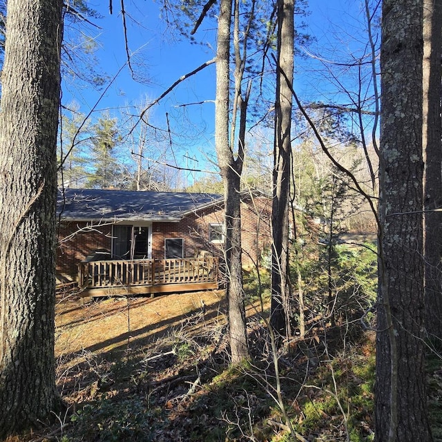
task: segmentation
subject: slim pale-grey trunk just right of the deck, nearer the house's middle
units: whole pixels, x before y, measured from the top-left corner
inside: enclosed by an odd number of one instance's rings
[[[218,18],[218,48],[216,61],[215,147],[222,180],[226,224],[225,258],[227,266],[227,297],[229,299],[229,332],[233,363],[249,356],[242,287],[240,176],[242,154],[233,158],[229,142],[229,86],[231,0],[221,0]],[[241,145],[242,151],[244,145]]]

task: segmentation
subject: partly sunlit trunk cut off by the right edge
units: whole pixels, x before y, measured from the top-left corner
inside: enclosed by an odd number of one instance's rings
[[[442,1],[425,3],[423,12],[423,160],[426,328],[442,339]]]

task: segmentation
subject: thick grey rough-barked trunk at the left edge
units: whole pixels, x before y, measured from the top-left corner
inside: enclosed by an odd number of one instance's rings
[[[8,0],[0,113],[0,439],[48,417],[55,390],[61,0]]]

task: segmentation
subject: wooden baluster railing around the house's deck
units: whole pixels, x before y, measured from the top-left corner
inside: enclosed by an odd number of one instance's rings
[[[134,285],[216,282],[218,258],[168,260],[103,260],[81,262],[78,284],[81,288]]]

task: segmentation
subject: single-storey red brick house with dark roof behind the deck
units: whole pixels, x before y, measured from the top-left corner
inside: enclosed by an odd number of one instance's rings
[[[222,256],[222,195],[64,189],[59,194],[57,275],[76,280],[88,260],[167,260]],[[269,247],[271,200],[243,193],[243,265]]]

